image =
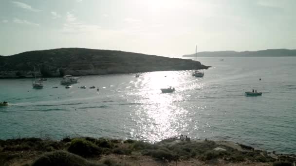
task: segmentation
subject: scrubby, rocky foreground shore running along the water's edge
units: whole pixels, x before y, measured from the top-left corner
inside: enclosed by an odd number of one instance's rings
[[[39,166],[36,163],[40,163],[40,160],[43,162],[42,165],[45,165],[44,162],[61,161],[58,159],[43,161],[44,157],[58,158],[59,155],[63,157],[69,155],[79,160],[82,157],[81,160],[92,164],[104,164],[108,160],[125,166],[139,164],[141,166],[208,164],[270,166],[271,163],[278,161],[291,164],[296,161],[295,154],[274,154],[224,140],[181,141],[174,137],[154,144],[130,139],[91,137],[65,137],[62,140],[40,138],[0,140],[1,165]]]

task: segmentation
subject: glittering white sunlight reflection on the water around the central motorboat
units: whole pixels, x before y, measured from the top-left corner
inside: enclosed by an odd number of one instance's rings
[[[185,90],[184,87],[181,88],[185,81],[185,76],[180,72],[151,72],[145,74],[140,91],[136,93],[138,98],[136,98],[135,102],[142,103],[142,105],[137,109],[133,118],[133,121],[137,124],[135,130],[138,131],[131,131],[132,137],[154,142],[176,136],[180,131],[185,131],[185,128],[189,125],[188,122],[192,121],[192,119],[188,117],[187,110],[173,104],[174,102],[184,101],[189,97],[180,94],[181,91]],[[166,88],[167,86],[175,87],[176,91],[174,93],[161,93],[160,88]],[[191,88],[195,87],[191,86]],[[201,87],[202,85],[199,88]],[[186,89],[188,90],[188,88]]]

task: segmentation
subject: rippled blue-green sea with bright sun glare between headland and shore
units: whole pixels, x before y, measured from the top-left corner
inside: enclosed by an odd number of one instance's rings
[[[61,78],[45,81],[43,89],[33,89],[33,79],[0,80],[0,100],[10,103],[0,107],[0,139],[70,135],[153,142],[183,133],[296,153],[296,57],[220,59],[198,58],[213,66],[203,78],[191,70],[83,76],[70,89]],[[176,91],[162,94],[167,85]],[[244,95],[252,89],[262,96]]]

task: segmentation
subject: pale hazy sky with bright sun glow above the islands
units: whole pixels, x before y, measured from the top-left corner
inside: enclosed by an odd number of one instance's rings
[[[296,49],[296,0],[0,0],[0,55]]]

